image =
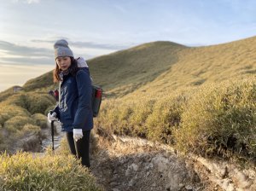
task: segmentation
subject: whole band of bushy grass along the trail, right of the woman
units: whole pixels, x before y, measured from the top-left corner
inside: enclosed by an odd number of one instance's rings
[[[232,79],[167,96],[104,101],[96,126],[203,156],[254,159],[255,102],[255,78]]]

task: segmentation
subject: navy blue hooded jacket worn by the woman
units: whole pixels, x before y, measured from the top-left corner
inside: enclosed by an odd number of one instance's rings
[[[59,104],[54,111],[61,121],[62,130],[67,132],[72,132],[73,129],[91,130],[93,115],[89,68],[80,68],[76,76],[70,73],[63,76],[59,92]]]

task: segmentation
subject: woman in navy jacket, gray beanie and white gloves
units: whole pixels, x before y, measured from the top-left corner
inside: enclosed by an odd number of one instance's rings
[[[48,113],[49,121],[59,119],[71,153],[90,167],[90,130],[93,128],[91,80],[88,67],[78,67],[66,40],[55,48],[54,82],[59,82],[59,103]]]

